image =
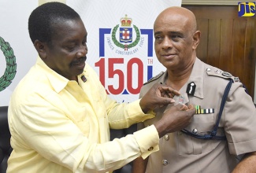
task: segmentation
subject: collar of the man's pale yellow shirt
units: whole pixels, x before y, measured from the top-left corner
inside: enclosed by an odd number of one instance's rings
[[[46,76],[49,79],[51,86],[57,93],[61,92],[61,90],[63,90],[68,83],[74,82],[70,81],[69,79],[66,79],[62,75],[59,75],[57,72],[49,68],[40,57],[37,58],[35,65],[41,68],[43,70],[43,73],[46,73]],[[81,75],[83,75],[83,73]],[[81,75],[77,76],[79,81],[81,81]]]

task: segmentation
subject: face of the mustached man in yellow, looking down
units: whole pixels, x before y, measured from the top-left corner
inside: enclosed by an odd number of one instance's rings
[[[83,72],[87,54],[87,31],[83,21],[67,20],[54,26],[56,34],[46,44],[45,63],[69,80]]]

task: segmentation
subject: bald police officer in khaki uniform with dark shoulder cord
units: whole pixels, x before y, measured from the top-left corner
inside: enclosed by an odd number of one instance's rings
[[[238,78],[196,57],[200,31],[195,15],[182,7],[165,9],[154,22],[154,38],[155,53],[166,72],[145,83],[140,97],[154,83],[165,83],[179,90],[180,96],[174,97],[174,104],[156,109],[155,118],[139,124],[139,129],[156,123],[177,104],[195,105],[197,114],[184,131],[160,138],[158,152],[135,160],[134,173],[255,171],[254,103]],[[228,92],[224,92],[226,87],[230,87]],[[243,156],[239,164],[237,156]]]

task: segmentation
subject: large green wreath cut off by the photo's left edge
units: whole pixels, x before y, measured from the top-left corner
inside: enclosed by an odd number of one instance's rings
[[[16,75],[16,57],[14,56],[13,49],[9,46],[9,42],[5,42],[2,37],[0,37],[0,47],[2,53],[6,57],[6,71],[4,75],[0,78],[0,91],[5,90],[9,84],[12,83],[14,76]]]

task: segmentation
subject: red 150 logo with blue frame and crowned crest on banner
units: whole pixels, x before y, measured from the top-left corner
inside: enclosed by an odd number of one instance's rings
[[[100,59],[95,67],[108,94],[139,94],[143,82],[152,77],[153,29],[133,23],[126,14],[113,28],[99,28]]]

